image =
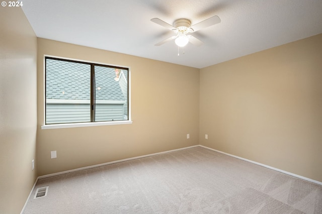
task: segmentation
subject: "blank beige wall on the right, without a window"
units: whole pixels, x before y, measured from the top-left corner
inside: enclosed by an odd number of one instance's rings
[[[322,182],[322,34],[201,69],[199,142]]]

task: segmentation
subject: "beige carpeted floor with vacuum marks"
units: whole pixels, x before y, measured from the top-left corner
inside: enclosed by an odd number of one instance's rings
[[[322,213],[322,186],[202,147],[39,179],[32,213]]]

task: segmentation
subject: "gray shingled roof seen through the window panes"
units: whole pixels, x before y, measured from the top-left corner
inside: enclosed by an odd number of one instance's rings
[[[124,71],[124,70],[123,70]],[[124,72],[127,76],[127,72]],[[98,100],[125,100],[115,69],[95,66],[95,93]],[[46,59],[47,99],[90,99],[91,65]],[[100,88],[100,89],[98,89]]]

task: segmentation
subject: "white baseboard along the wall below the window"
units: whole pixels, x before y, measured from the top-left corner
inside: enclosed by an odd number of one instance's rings
[[[62,174],[70,173],[70,172],[76,172],[76,171],[81,171],[81,170],[85,170],[85,169],[91,169],[91,168],[95,168],[95,167],[110,165],[110,164],[114,164],[114,163],[120,163],[120,162],[124,162],[124,161],[129,161],[129,160],[135,160],[135,159],[139,159],[139,158],[150,157],[150,156],[154,156],[154,155],[166,154],[166,153],[169,153],[169,152],[175,152],[175,151],[189,149],[189,148],[194,148],[194,147],[198,147],[198,146],[199,145],[189,146],[189,147],[184,147],[184,148],[180,148],[180,149],[173,149],[173,150],[169,150],[169,151],[165,151],[165,152],[158,152],[158,153],[153,153],[153,154],[148,154],[148,155],[137,156],[137,157],[133,157],[133,158],[126,158],[126,159],[122,159],[122,160],[111,161],[111,162],[107,162],[107,163],[101,163],[101,164],[97,164],[97,165],[86,166],[86,167],[81,167],[81,168],[77,168],[77,169],[71,169],[71,170],[66,170],[66,171],[62,171],[62,172],[57,172],[57,173],[42,175],[42,176],[39,176],[38,178],[39,179],[41,179],[41,178],[47,178],[47,177],[52,177],[52,176],[56,176],[56,175],[62,175]]]

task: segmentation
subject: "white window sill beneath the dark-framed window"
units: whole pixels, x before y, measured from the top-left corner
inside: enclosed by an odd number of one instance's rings
[[[108,122],[90,122],[90,123],[73,123],[73,124],[50,124],[43,125],[41,129],[64,129],[64,128],[76,128],[76,127],[91,127],[91,126],[110,126],[132,124],[132,121],[108,121]]]

